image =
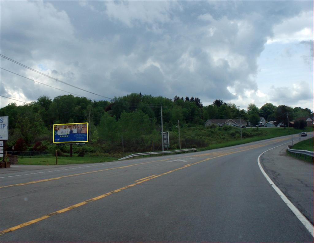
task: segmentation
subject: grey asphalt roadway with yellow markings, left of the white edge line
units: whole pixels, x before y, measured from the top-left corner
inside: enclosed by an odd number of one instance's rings
[[[313,242],[257,164],[289,141],[1,169],[0,242]]]

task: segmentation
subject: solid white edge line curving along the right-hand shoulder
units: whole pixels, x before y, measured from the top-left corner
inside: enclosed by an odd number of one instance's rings
[[[291,141],[290,141],[291,142]],[[289,144],[288,143],[284,143],[284,144]],[[279,146],[273,147],[269,150],[275,149],[277,147],[280,147],[284,144],[281,144]],[[269,151],[266,150],[263,153]],[[295,216],[301,221],[301,223],[305,226],[305,228],[310,232],[310,234],[314,237],[314,228],[313,225],[311,224],[310,221],[307,220],[307,218],[299,211],[299,209],[297,209],[293,203],[284,195],[284,193],[273,183],[273,181],[269,178],[269,176],[266,174],[266,172],[264,171],[261,163],[260,163],[260,157],[261,155],[263,155],[263,153],[261,153],[258,158],[257,158],[257,163],[258,163],[258,167],[260,168],[260,170],[262,171],[263,175],[265,176],[265,178],[267,179],[267,181],[269,182],[269,184],[273,187],[273,189],[278,193],[278,195],[281,197],[281,199],[284,201],[285,204],[287,204],[287,206],[290,208],[290,210],[295,214]]]

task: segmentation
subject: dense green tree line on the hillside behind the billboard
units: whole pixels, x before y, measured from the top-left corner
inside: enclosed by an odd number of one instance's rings
[[[161,106],[164,131],[177,131],[204,126],[207,119],[241,119],[257,124],[263,116],[267,121],[287,124],[299,117],[313,116],[308,108],[266,103],[261,108],[249,104],[240,109],[236,104],[216,99],[204,106],[198,97],[167,99],[161,96],[131,93],[111,101],[92,101],[73,95],[50,99],[41,96],[30,104],[11,103],[0,109],[0,116],[9,116],[8,147],[15,150],[44,150],[52,143],[53,124],[89,122],[90,141],[94,147],[109,151],[121,147],[128,151],[161,149]],[[187,145],[188,146],[188,145]]]

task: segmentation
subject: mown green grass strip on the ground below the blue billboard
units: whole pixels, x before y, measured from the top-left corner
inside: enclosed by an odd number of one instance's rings
[[[100,156],[100,157],[58,157],[58,165],[70,165],[70,164],[87,164],[87,163],[101,163],[101,162],[109,162],[116,161],[117,158]],[[19,157],[19,164],[22,165],[55,165],[56,157],[54,156],[33,156],[33,157]]]

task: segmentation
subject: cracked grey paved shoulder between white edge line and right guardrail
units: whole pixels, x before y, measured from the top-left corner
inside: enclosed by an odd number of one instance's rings
[[[261,164],[276,186],[313,224],[313,164],[286,154],[287,145],[265,152]]]

